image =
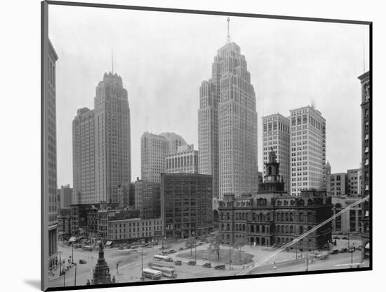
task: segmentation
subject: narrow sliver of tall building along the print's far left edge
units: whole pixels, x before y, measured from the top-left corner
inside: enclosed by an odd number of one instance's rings
[[[46,40],[45,40],[46,41]],[[45,43],[46,44],[46,43]],[[57,229],[58,229],[58,196],[57,196],[57,175],[56,175],[56,72],[55,63],[58,55],[48,39],[45,46],[46,59],[44,60],[44,128],[43,128],[43,148],[44,148],[44,242],[48,242],[48,255],[44,255],[46,266],[48,260],[48,269],[55,265],[58,255]],[[45,276],[45,275],[44,275]]]

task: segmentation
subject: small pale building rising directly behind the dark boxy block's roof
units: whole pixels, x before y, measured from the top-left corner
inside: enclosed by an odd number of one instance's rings
[[[177,152],[166,155],[166,173],[199,173],[199,152],[192,145],[179,146]]]

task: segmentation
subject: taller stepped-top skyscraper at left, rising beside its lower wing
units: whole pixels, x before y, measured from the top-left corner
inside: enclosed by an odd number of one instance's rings
[[[96,87],[94,119],[95,198],[116,203],[119,186],[131,182],[130,109],[117,73],[105,73]]]

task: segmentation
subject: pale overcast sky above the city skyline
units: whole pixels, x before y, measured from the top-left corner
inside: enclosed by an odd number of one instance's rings
[[[140,176],[143,132],[175,132],[198,148],[201,81],[211,77],[226,42],[225,16],[49,5],[49,37],[58,53],[58,187],[72,185],[72,120],[93,108],[105,72],[119,74],[131,110],[131,179]],[[313,104],[326,118],[326,158],[333,172],[359,168],[361,86],[368,70],[364,25],[231,17],[232,41],[246,56],[261,117]],[[365,42],[365,48],[364,48]],[[364,58],[365,56],[365,58]]]

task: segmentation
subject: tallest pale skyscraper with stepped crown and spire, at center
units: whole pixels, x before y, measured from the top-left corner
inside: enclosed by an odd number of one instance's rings
[[[199,168],[199,173],[213,175],[213,185],[218,180],[215,198],[258,191],[255,91],[246,59],[230,41],[229,30],[227,44],[214,58],[212,78],[200,88]]]

